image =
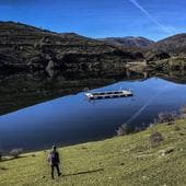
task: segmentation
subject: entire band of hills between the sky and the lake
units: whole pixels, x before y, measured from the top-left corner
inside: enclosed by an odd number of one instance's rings
[[[97,71],[130,61],[155,61],[186,54],[186,34],[154,43],[143,37],[92,39],[34,26],[0,22],[0,72],[59,69]]]

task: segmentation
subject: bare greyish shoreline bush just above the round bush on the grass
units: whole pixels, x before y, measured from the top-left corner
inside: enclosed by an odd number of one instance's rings
[[[175,112],[165,112],[165,113],[160,113],[158,117],[158,123],[163,124],[167,123],[168,125],[173,124],[177,119],[177,114]]]

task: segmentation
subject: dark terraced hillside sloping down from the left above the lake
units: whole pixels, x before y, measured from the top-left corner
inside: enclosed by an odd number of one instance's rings
[[[74,33],[58,34],[14,22],[0,22],[0,69],[85,69],[143,59],[141,53]]]

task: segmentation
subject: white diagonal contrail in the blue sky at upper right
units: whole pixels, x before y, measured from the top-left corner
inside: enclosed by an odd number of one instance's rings
[[[155,23],[160,28],[162,28],[165,33],[167,34],[172,34],[172,32],[164,26],[163,24],[161,24],[158,20],[155,20],[144,8],[141,7],[141,4],[139,4],[139,2],[137,0],[129,0],[136,8],[138,8],[139,10],[141,10],[141,12],[143,12],[149,20],[151,20],[153,23]]]

